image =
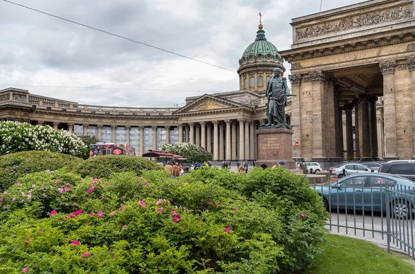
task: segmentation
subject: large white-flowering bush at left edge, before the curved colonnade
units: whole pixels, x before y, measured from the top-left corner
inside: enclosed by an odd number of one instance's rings
[[[48,125],[28,122],[0,122],[0,155],[28,150],[44,150],[82,157],[86,145],[75,134]]]

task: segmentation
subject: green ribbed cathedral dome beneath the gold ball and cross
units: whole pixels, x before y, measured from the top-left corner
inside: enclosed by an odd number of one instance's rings
[[[266,40],[265,31],[262,30],[262,25],[259,27],[255,42],[250,44],[248,48],[243,51],[243,55],[241,59],[239,59],[239,70],[246,66],[262,64],[278,66],[285,71],[284,66],[282,65],[283,60],[278,53],[277,47]]]

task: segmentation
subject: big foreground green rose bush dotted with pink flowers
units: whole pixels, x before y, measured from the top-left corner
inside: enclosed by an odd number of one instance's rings
[[[1,194],[0,271],[304,273],[321,250],[326,212],[295,178],[282,170],[238,175],[214,168],[177,179],[164,170],[109,179],[66,170],[28,174]],[[61,183],[69,189],[59,192]]]

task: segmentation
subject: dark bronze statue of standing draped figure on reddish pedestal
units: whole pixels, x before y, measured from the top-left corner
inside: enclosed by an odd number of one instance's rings
[[[287,105],[287,97],[291,96],[288,91],[287,79],[282,76],[282,69],[275,68],[274,76],[270,77],[266,85],[265,95],[268,98],[268,107],[266,115],[268,123],[261,125],[261,127],[273,127],[292,129],[291,125],[287,124],[285,116],[285,107]]]

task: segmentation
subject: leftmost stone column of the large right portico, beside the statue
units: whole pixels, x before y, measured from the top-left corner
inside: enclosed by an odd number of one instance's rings
[[[291,97],[291,125],[298,125],[298,127],[293,128],[293,142],[299,142],[300,144],[300,146],[297,149],[297,156],[301,159],[301,114],[299,111],[301,93],[299,92],[299,89],[302,83],[302,75],[300,73],[288,75],[288,79],[291,82],[291,93],[293,95],[297,95],[295,97]],[[293,147],[293,155],[295,155],[295,147]]]

